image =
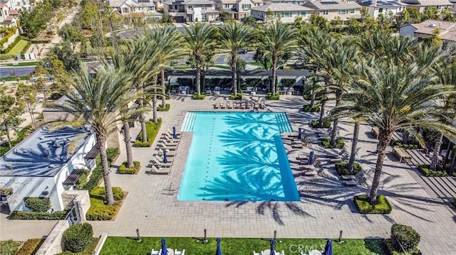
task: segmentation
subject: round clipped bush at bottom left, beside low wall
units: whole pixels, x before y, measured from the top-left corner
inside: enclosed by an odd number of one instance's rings
[[[93,229],[88,223],[73,224],[63,232],[63,243],[66,249],[81,252],[92,242]]]

